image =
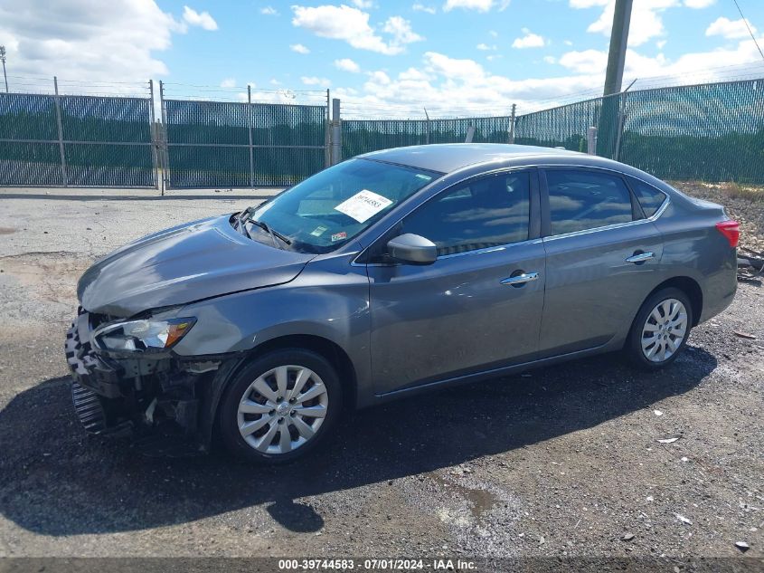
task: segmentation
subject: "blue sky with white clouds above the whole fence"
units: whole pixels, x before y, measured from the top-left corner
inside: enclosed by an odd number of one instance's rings
[[[614,0],[0,0],[12,91],[507,115],[601,95]],[[764,49],[764,0],[738,0]],[[634,0],[624,87],[764,78],[733,0]]]

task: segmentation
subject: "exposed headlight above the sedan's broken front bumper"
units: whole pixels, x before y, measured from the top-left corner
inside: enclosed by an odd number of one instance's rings
[[[196,319],[127,320],[93,331],[101,349],[150,352],[170,349],[193,327]]]

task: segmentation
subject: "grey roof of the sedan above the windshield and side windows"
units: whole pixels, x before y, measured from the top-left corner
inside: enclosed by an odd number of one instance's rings
[[[359,158],[375,159],[399,165],[418,167],[440,173],[451,173],[462,167],[482,163],[507,163],[512,159],[522,160],[523,164],[536,160],[554,159],[555,163],[565,163],[566,158],[577,165],[591,165],[613,168],[625,167],[608,159],[568,151],[567,149],[541,148],[531,145],[503,143],[445,143],[418,145],[406,148],[382,149],[365,153]],[[520,162],[520,161],[518,161]]]

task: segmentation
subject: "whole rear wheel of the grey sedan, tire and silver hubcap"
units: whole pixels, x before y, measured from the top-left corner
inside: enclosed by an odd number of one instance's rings
[[[648,370],[671,364],[686,346],[692,324],[693,307],[683,291],[656,292],[637,312],[625,347],[628,358]]]

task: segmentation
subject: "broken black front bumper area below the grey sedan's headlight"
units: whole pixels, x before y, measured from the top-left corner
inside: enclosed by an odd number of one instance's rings
[[[94,348],[90,332],[105,320],[80,309],[67,331],[72,402],[91,434],[135,435],[159,454],[209,449],[230,357],[115,354]]]

